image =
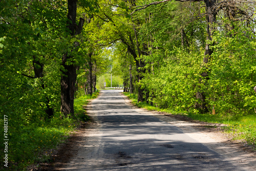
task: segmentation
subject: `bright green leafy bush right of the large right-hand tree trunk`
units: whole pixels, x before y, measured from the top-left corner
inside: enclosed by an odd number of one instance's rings
[[[218,113],[255,115],[256,44],[251,37],[254,34],[242,24],[214,37],[218,44],[212,56],[208,97]]]

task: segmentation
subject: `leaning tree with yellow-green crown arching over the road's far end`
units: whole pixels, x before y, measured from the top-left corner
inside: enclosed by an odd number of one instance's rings
[[[141,47],[137,38],[138,28],[136,28],[139,23],[135,23],[129,17],[131,6],[134,6],[135,2],[113,1],[111,3],[98,3],[100,10],[94,14],[97,17],[94,20],[94,25],[95,28],[100,27],[100,31],[98,31],[98,35],[95,35],[97,37],[95,39],[100,40],[100,43],[105,46],[111,46],[117,41],[122,42],[136,61],[139,82],[143,77],[145,63],[140,58]],[[143,101],[143,98],[143,90],[139,86],[138,101]]]

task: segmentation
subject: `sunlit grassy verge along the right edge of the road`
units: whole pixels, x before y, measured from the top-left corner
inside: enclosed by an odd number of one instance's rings
[[[209,123],[222,123],[226,126],[223,127],[223,131],[231,134],[233,139],[240,140],[242,142],[252,145],[256,149],[256,116],[232,116],[232,115],[212,115],[197,114],[197,113],[180,113],[170,109],[159,109],[156,106],[147,104],[146,102],[137,102],[137,95],[124,93],[132,100],[132,103],[139,108],[144,108],[149,111],[165,112],[173,115],[186,115],[194,120],[209,122]]]

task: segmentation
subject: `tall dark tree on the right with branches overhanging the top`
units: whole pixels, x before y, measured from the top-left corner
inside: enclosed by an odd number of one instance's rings
[[[134,12],[136,12],[136,11],[143,10],[152,5],[166,3],[169,1],[171,1],[171,0],[165,0],[165,1],[161,1],[161,2],[153,2],[153,3],[147,4],[147,5],[137,6],[137,7],[135,7],[137,9],[135,9],[131,13],[131,15],[133,15]],[[204,2],[204,4],[205,4],[207,34],[206,34],[206,44],[205,44],[204,58],[203,58],[203,64],[202,64],[202,68],[204,70],[200,74],[202,77],[199,79],[199,81],[202,82],[206,86],[207,80],[209,79],[209,72],[211,70],[211,68],[210,68],[210,62],[212,60],[211,55],[214,52],[215,41],[212,40],[212,35],[214,34],[214,31],[215,31],[216,17],[217,17],[218,12],[223,9],[226,10],[228,13],[227,16],[229,18],[234,18],[234,16],[236,14],[246,15],[247,18],[251,15],[247,15],[243,10],[241,10],[241,7],[239,7],[239,4],[241,5],[240,2],[237,3],[236,1],[233,1],[233,0],[230,0],[230,1],[176,0],[176,1],[177,2]],[[183,30],[182,30],[182,36],[184,36]],[[184,39],[184,37],[182,38],[182,40],[183,39]],[[184,43],[183,43],[183,45],[184,45]],[[196,98],[200,99],[200,101],[195,104],[195,108],[200,109],[200,111],[202,113],[208,112],[207,104],[205,101],[205,92],[204,92],[203,88],[196,93]]]

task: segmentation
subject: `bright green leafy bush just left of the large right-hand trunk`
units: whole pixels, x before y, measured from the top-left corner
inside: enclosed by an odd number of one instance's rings
[[[166,53],[165,65],[155,68],[154,73],[145,74],[141,81],[143,88],[150,91],[149,100],[162,109],[193,109],[194,104],[199,102],[195,98],[196,92],[204,87],[198,82],[202,72],[201,54],[197,50],[187,52],[180,48]]]

